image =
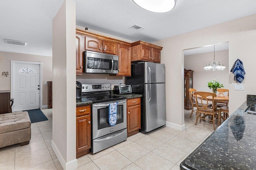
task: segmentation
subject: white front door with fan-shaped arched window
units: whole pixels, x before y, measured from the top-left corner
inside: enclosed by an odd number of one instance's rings
[[[13,111],[40,108],[40,64],[13,63]]]

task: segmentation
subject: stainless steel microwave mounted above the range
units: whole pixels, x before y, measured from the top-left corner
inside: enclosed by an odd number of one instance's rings
[[[85,73],[118,74],[118,56],[84,51]]]

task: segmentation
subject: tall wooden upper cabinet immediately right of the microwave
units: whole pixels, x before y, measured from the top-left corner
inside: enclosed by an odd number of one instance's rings
[[[131,76],[131,47],[118,44],[118,56],[117,76]]]

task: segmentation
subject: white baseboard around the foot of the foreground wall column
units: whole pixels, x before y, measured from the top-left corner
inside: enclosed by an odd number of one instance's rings
[[[52,149],[55,152],[55,154],[64,170],[75,170],[77,168],[77,159],[66,162],[66,160],[63,158],[62,154],[56,147],[54,141],[52,141]]]

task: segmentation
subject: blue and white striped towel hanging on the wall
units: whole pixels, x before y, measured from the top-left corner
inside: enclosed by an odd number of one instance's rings
[[[244,74],[245,74],[243,62],[240,59],[237,59],[236,62],[233,64],[230,72],[233,72],[234,80],[242,83],[242,81],[244,80]]]

